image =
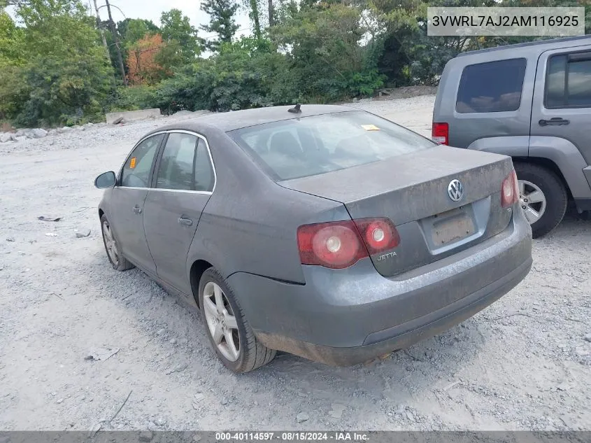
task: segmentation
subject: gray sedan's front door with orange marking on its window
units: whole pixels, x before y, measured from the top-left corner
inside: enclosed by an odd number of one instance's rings
[[[142,140],[123,164],[118,185],[111,194],[111,225],[121,253],[134,265],[155,274],[156,265],[143,231],[145,197],[152,179],[158,148],[164,134]]]

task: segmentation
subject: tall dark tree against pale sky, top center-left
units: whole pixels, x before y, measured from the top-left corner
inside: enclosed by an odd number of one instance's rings
[[[221,43],[231,43],[238,31],[234,19],[238,4],[234,0],[205,0],[201,3],[201,10],[210,17],[209,24],[201,25],[201,29],[217,34],[216,38],[206,42],[206,48],[217,51]]]

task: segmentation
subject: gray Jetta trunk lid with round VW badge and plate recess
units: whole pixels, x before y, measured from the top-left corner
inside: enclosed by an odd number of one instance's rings
[[[279,184],[341,202],[353,219],[390,218],[400,244],[371,260],[396,276],[504,230],[511,209],[501,207],[501,183],[512,170],[504,155],[436,146]]]

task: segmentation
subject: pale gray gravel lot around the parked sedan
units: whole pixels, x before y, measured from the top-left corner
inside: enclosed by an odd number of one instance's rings
[[[433,99],[355,106],[428,135]],[[515,290],[438,337],[352,368],[283,354],[227,372],[199,314],[115,272],[101,243],[94,177],[173,119],[0,145],[1,429],[591,430],[591,222],[576,213],[534,241]]]

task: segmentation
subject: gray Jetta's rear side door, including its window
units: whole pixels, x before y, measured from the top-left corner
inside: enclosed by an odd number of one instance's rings
[[[206,139],[169,132],[145,199],[144,230],[160,279],[190,295],[186,262],[197,224],[215,186]]]

